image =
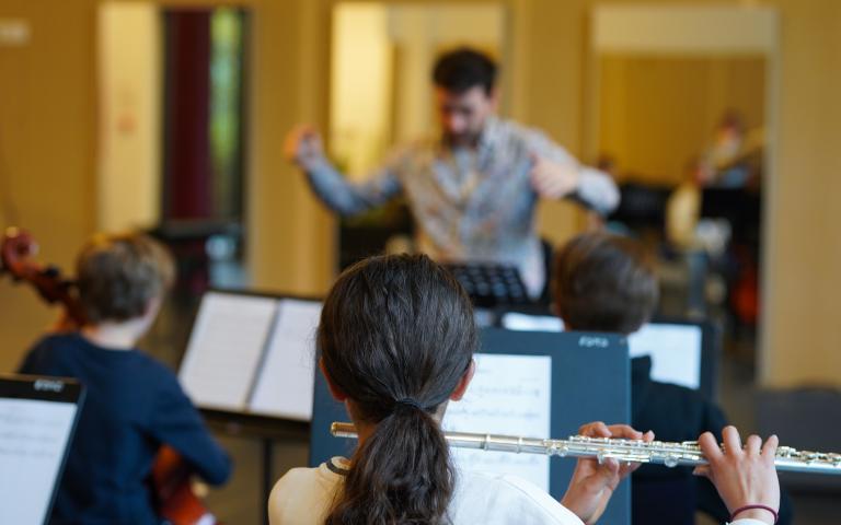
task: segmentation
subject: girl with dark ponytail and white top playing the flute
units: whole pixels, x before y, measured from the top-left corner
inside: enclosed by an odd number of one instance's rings
[[[358,446],[349,460],[287,472],[269,498],[270,523],[595,523],[633,467],[579,460],[563,504],[512,476],[453,469],[440,421],[470,384],[477,345],[470,300],[426,256],[375,257],[342,273],[324,303],[316,346]],[[590,423],[581,432],[643,439],[625,425]]]

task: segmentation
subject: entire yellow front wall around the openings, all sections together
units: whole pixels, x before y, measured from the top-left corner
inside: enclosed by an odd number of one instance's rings
[[[330,2],[243,3],[253,7],[247,236],[254,283],[320,292],[332,275],[332,218],[284,162],[279,145],[297,121],[326,129]],[[517,36],[512,114],[573,153],[583,145],[587,13],[596,3],[508,2]],[[841,195],[841,2],[767,3],[781,11],[782,82],[771,116],[779,122],[779,143],[765,221],[768,328],[761,376],[775,385],[839,383],[841,235],[832,226],[841,222],[836,203]],[[0,170],[13,188],[19,222],[38,234],[47,259],[66,266],[96,221],[96,4],[0,3],[0,18],[23,18],[32,25],[28,46],[0,47]],[[569,208],[549,206],[541,219],[555,238],[573,231]],[[0,370],[18,361],[48,317],[30,295],[0,284]]]

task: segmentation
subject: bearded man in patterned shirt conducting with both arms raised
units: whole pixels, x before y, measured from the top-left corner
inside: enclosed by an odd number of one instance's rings
[[[285,152],[337,213],[354,215],[403,194],[420,252],[442,262],[512,265],[537,298],[546,281],[538,198],[568,198],[608,213],[619,191],[609,175],[581,165],[541,131],[496,116],[496,73],[494,61],[473,49],[439,57],[433,82],[440,137],[396,148],[362,184],[331,164],[311,127],[290,131]]]

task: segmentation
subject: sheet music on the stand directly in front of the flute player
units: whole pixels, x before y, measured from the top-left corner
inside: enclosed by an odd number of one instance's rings
[[[461,401],[451,401],[443,429],[550,438],[552,358],[477,353],[476,374]],[[451,448],[459,469],[511,474],[549,491],[549,457]]]

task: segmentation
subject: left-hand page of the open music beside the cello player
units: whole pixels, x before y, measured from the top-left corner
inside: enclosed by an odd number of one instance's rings
[[[205,294],[178,373],[193,402],[245,410],[276,310],[275,299]]]

